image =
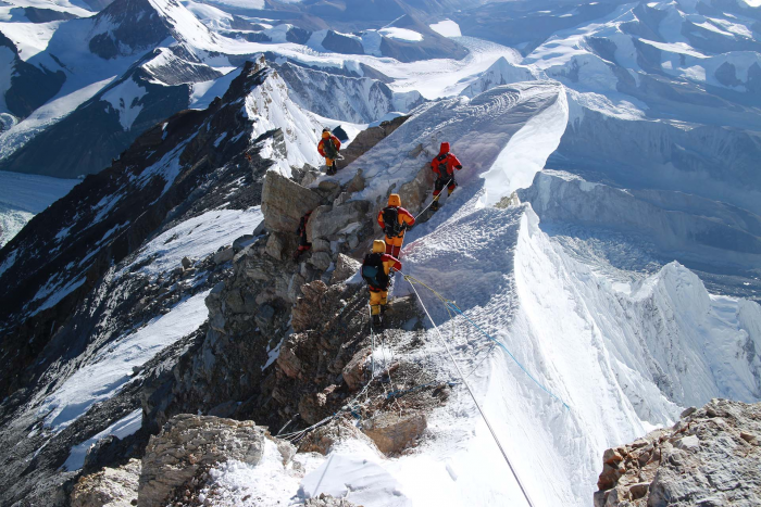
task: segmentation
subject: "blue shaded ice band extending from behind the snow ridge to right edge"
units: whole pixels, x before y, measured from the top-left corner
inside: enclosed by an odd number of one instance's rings
[[[621,189],[564,172],[538,174],[521,200],[546,224],[573,224],[647,238],[665,258],[753,271],[761,266],[761,217],[698,195]]]

